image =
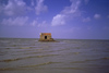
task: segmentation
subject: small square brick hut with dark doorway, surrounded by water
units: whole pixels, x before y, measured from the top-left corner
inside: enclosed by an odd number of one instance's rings
[[[55,41],[53,38],[51,38],[51,33],[40,33],[39,41]]]

